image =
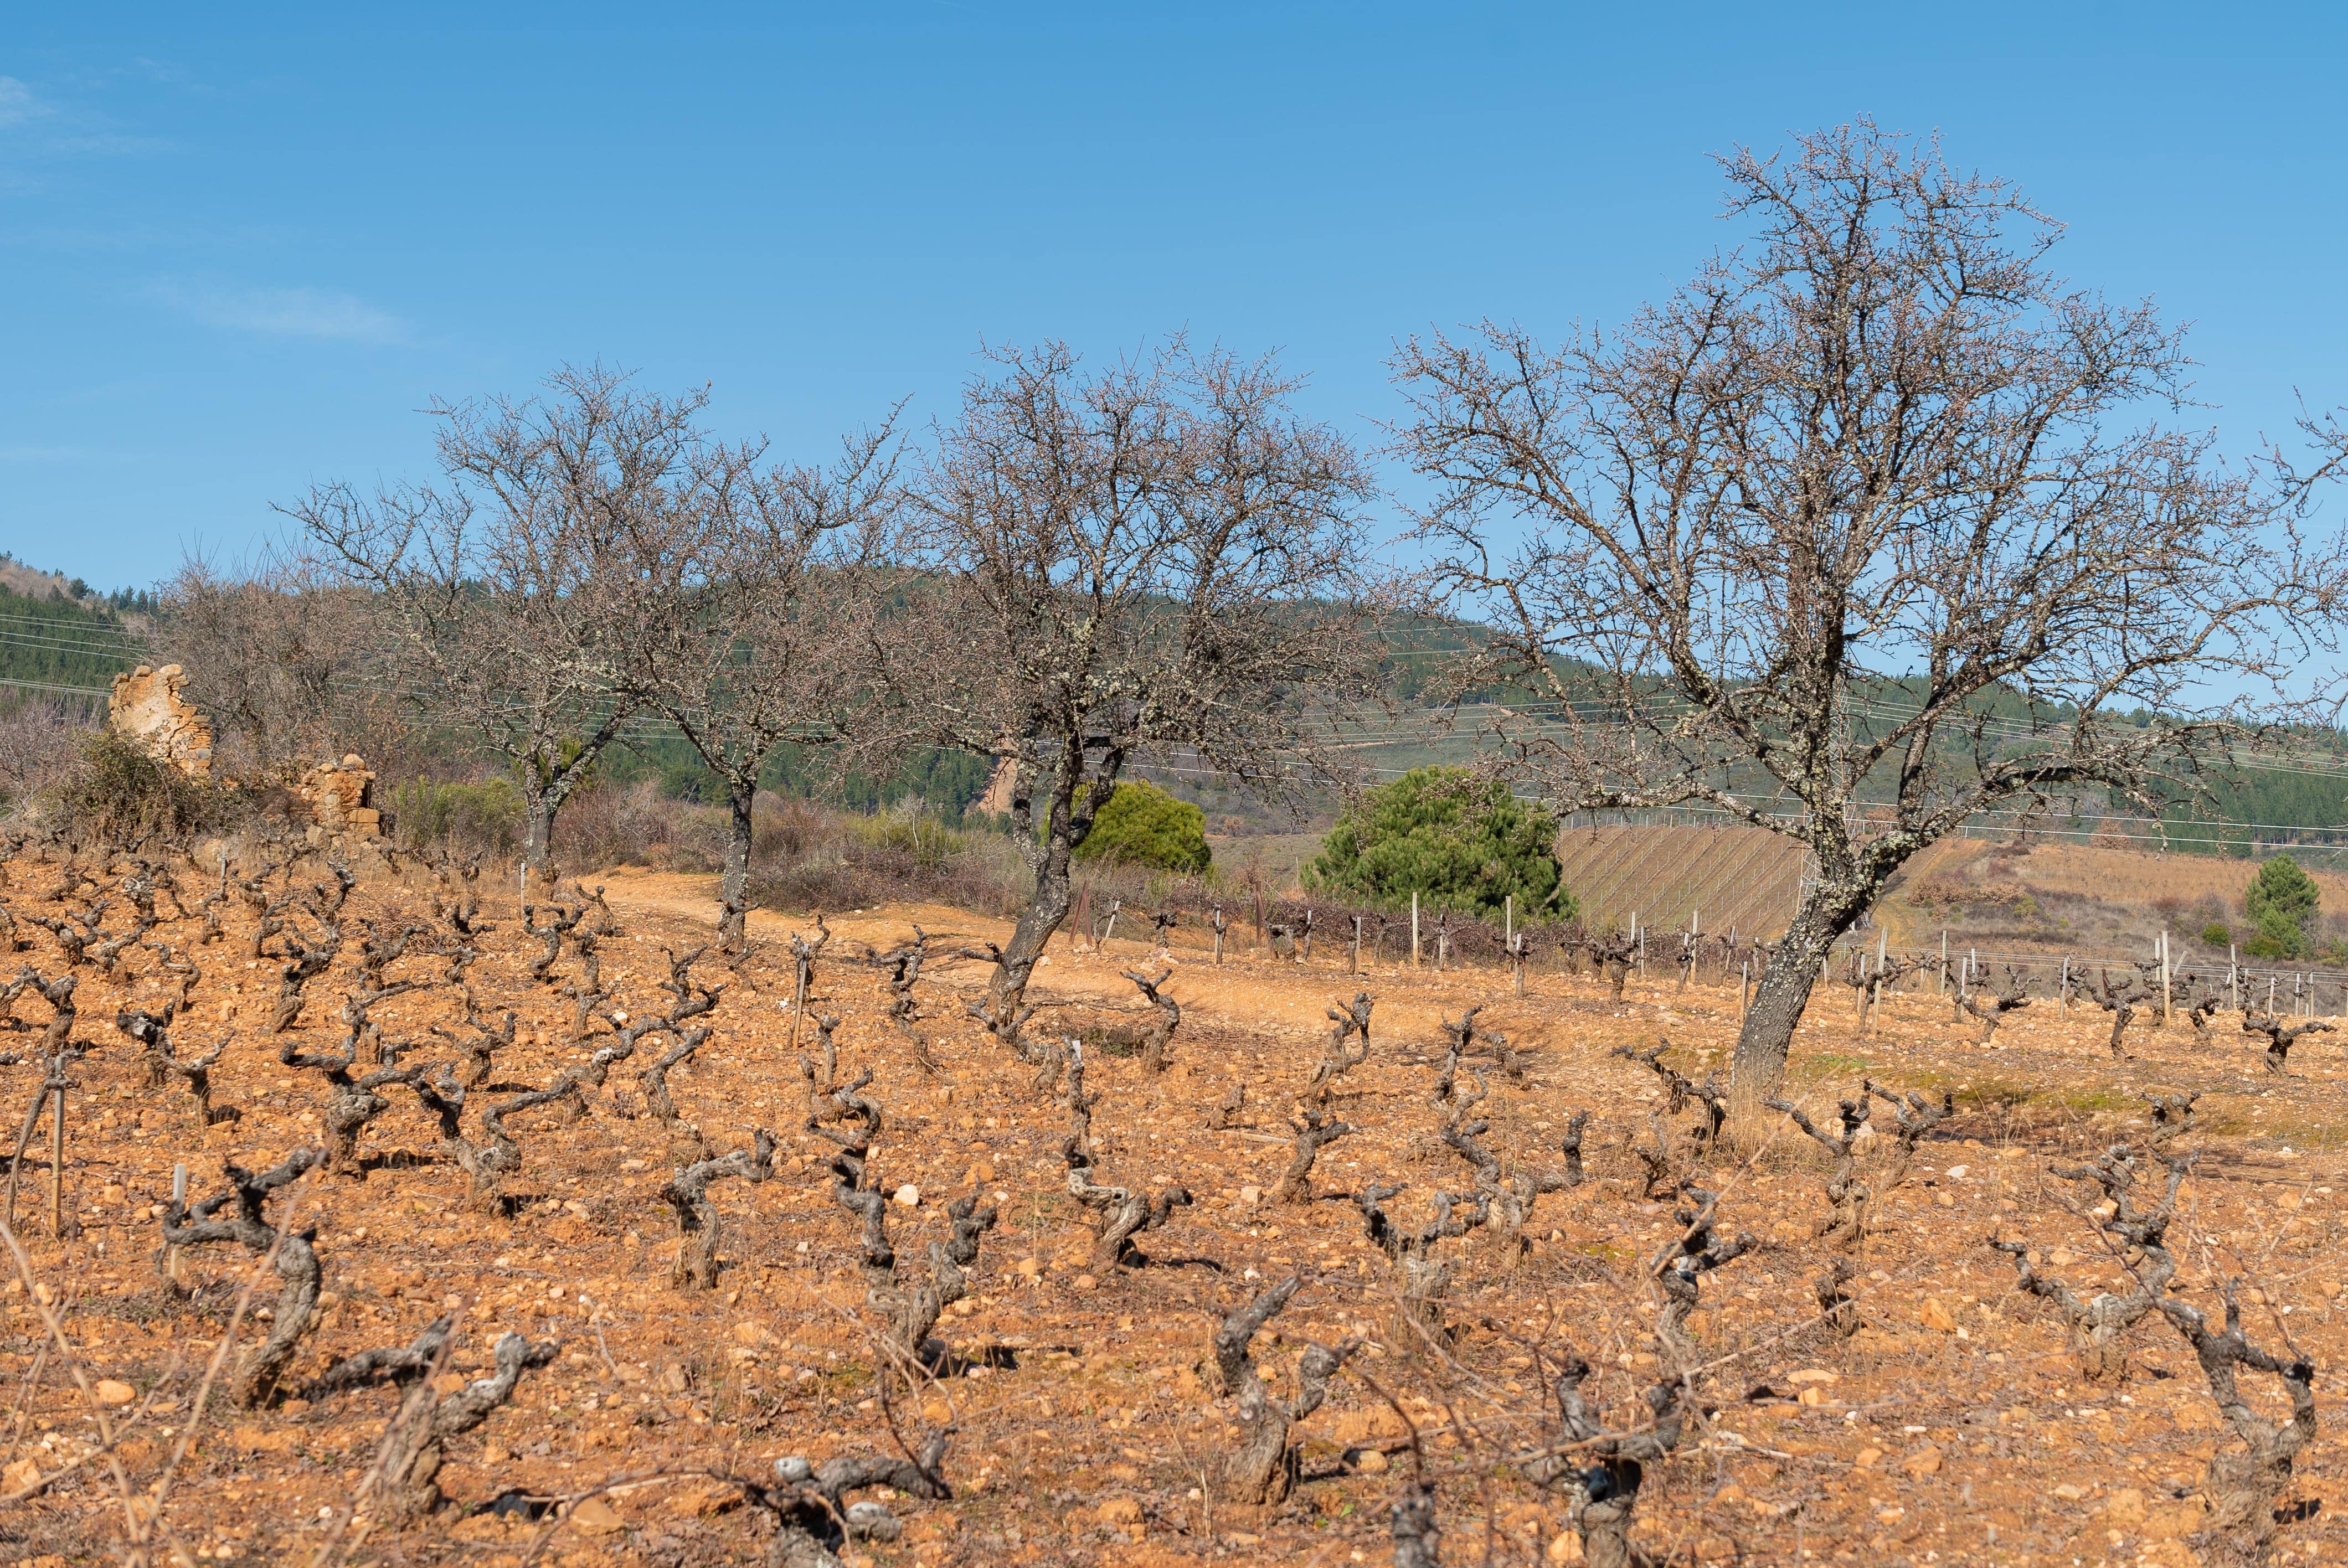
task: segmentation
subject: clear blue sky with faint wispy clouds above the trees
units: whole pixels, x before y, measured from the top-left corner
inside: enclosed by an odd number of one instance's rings
[[[1712,153],[1857,113],[2195,324],[2228,439],[2348,401],[2341,7],[369,9],[9,7],[0,547],[235,556],[564,359],[817,453],[981,338],[1188,326],[1376,439],[1397,333],[1613,322],[1721,242]]]

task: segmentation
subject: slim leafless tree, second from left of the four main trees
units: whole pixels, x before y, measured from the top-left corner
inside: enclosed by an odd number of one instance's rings
[[[862,653],[892,554],[895,415],[824,467],[770,465],[765,441],[695,444],[657,502],[629,512],[627,681],[726,789],[721,937],[749,920],[751,805],[775,749],[838,739],[869,690]]]

